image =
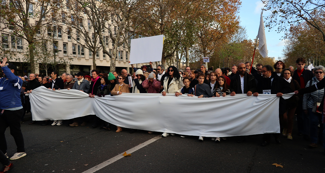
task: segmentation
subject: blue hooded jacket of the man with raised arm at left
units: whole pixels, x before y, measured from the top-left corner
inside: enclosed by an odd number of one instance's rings
[[[15,76],[8,67],[2,67],[6,78],[0,79],[0,109],[20,107],[20,88],[22,80]]]

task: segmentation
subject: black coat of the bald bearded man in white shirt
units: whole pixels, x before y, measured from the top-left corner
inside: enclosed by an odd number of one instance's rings
[[[245,72],[244,75],[244,93],[241,91],[240,85],[240,74],[237,72],[230,81],[230,93],[235,92],[236,94],[247,94],[248,91],[255,93],[256,91],[256,82],[253,75]]]

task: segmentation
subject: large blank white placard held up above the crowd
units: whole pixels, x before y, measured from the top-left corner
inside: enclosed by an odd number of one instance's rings
[[[131,40],[131,64],[162,60],[163,35]]]

